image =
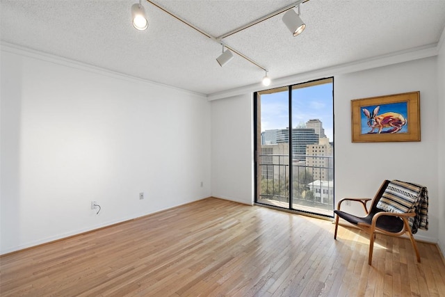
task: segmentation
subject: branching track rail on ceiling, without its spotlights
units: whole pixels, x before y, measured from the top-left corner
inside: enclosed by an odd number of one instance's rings
[[[235,33],[238,33],[240,31],[243,31],[245,29],[250,28],[251,26],[254,26],[256,24],[259,24],[260,22],[264,22],[266,19],[270,19],[270,17],[275,17],[275,15],[280,15],[280,13],[284,13],[285,11],[292,9],[296,6],[298,6],[300,3],[304,3],[307,2],[309,0],[298,0],[295,3],[286,6],[284,8],[281,8],[279,10],[275,10],[273,13],[270,13],[268,15],[265,15],[264,17],[260,17],[259,19],[254,20],[253,22],[250,22],[248,24],[245,24],[237,29],[234,29],[232,31],[229,31],[223,35],[220,35],[218,37],[215,37],[213,35],[211,35],[210,33],[200,29],[199,27],[195,26],[194,24],[191,24],[191,22],[188,22],[186,19],[183,19],[182,17],[179,17],[178,15],[175,15],[174,13],[172,13],[171,11],[169,11],[167,8],[164,8],[163,6],[159,5],[158,3],[152,1],[152,0],[145,0],[148,3],[152,4],[153,6],[156,6],[157,8],[159,8],[160,10],[162,10],[164,13],[167,13],[168,15],[174,17],[175,19],[177,19],[179,22],[182,22],[184,24],[186,24],[187,26],[191,27],[192,29],[195,29],[195,31],[201,33],[202,35],[206,36],[207,38],[210,38],[211,40],[213,40],[214,42],[218,42],[220,45],[223,45],[224,47],[226,47],[227,49],[233,51],[235,54],[237,54],[238,56],[241,56],[241,58],[245,59],[246,61],[252,63],[253,65],[261,68],[262,70],[268,72],[268,70],[266,69],[266,67],[261,66],[259,63],[253,61],[251,58],[249,58],[248,56],[246,56],[245,54],[242,54],[241,51],[238,51],[237,49],[234,49],[234,47],[231,47],[229,45],[227,45],[225,42],[223,42],[223,38],[227,38],[230,35],[233,35]]]

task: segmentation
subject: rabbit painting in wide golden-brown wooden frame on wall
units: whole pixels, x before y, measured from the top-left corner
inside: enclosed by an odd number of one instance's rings
[[[420,92],[350,102],[353,143],[420,141]]]

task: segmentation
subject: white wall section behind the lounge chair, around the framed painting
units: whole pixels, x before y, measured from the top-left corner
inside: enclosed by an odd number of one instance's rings
[[[437,58],[343,74],[334,79],[335,197],[372,197],[383,179],[427,186],[429,230],[417,239],[437,242],[439,199],[437,177]],[[421,141],[352,143],[350,100],[420,91]],[[361,211],[361,207],[357,206]]]

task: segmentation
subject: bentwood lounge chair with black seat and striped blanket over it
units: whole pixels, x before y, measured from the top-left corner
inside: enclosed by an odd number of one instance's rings
[[[375,234],[410,237],[412,247],[416,252],[417,262],[420,263],[419,249],[412,234],[417,229],[428,230],[428,191],[426,187],[417,184],[385,180],[375,194],[368,210],[366,203],[370,198],[344,198],[339,201],[335,219],[334,239],[337,239],[339,218],[352,223],[369,234],[369,259],[373,259],[373,245]],[[359,217],[341,211],[341,204],[345,201],[359,202],[366,211],[366,216]]]

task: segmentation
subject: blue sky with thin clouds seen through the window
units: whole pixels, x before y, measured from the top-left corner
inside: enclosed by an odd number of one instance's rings
[[[308,120],[323,122],[326,136],[334,141],[332,83],[292,90],[292,127]],[[288,93],[261,95],[261,131],[289,127]]]

